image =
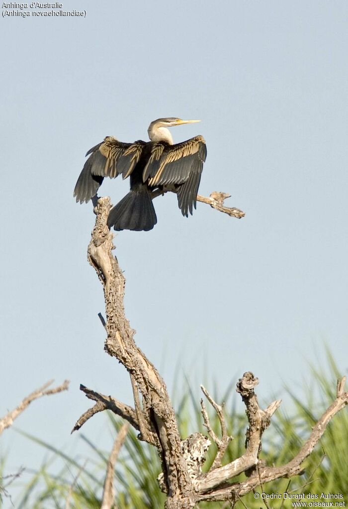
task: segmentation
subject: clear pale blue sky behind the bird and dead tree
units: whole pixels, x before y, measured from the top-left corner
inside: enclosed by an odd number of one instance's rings
[[[346,372],[346,1],[63,9],[86,17],[1,19],[0,415],[45,381],[70,379],[16,426],[83,457],[69,435],[90,405],[79,384],[131,403],[123,367],[103,351],[102,288],[86,262],[92,205],[72,193],[88,149],[106,135],[147,139],[158,117],[202,120],[173,138],[204,135],[199,192],[229,192],[246,213],[198,203],[186,219],[166,195],[153,231],[115,238],[135,339],[170,392],[187,374],[198,401],[200,382],[222,394],[250,370],[267,403],[284,383],[301,394],[308,362],[325,365],[324,342]],[[100,194],[115,204],[128,185],[105,181]],[[83,432],[111,443],[103,415]],[[44,455],[14,430],[0,447],[7,473]]]

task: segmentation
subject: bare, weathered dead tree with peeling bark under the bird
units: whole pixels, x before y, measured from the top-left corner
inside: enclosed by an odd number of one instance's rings
[[[212,193],[209,198],[199,196],[199,201],[231,216],[242,217],[244,213],[239,209],[229,209],[223,205],[225,197],[224,193]],[[202,391],[218,415],[221,438],[213,432],[206,407],[201,402],[202,417],[210,439],[201,433],[194,433],[183,440],[166,385],[155,366],[135,344],[135,331],[125,316],[125,277],[112,254],[113,235],[106,224],[110,207],[108,197],[100,198],[97,202],[96,224],[88,247],[88,258],[104,289],[106,322],[103,320],[103,325],[107,332],[105,351],[121,362],[128,371],[134,406],[125,405],[112,396],[81,385],[80,389],[86,397],[95,401],[95,405],[81,415],[73,431],[81,428],[93,415],[106,409],[128,421],[139,431],[140,440],[152,444],[158,450],[162,461],[159,484],[167,494],[166,509],[189,509],[201,500],[235,501],[258,486],[280,477],[301,473],[303,461],[323,435],[328,422],[348,402],[348,393],[344,392],[345,379],[337,384],[335,401],[317,421],[299,453],[281,467],[266,466],[258,459],[262,435],[270,425],[280,400],[274,401],[265,410],[260,408],[254,391],[258,379],[250,372],[244,373],[237,383],[237,391],[245,404],[249,423],[245,453],[222,466],[222,457],[230,437],[227,435],[222,406],[211,398],[204,387],[201,387]],[[210,470],[203,473],[201,467],[211,441],[216,443],[217,455]],[[231,483],[231,479],[242,472],[247,472],[246,479],[243,482]]]

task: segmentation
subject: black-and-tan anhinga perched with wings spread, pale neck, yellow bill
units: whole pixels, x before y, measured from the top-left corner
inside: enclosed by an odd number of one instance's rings
[[[88,203],[102,184],[104,177],[122,175],[130,178],[130,191],[109,212],[107,225],[116,231],[149,231],[157,223],[152,203],[154,196],[175,192],[183,216],[192,214],[207,147],[203,136],[185,142],[173,143],[168,127],[192,124],[199,120],[175,117],[151,122],[148,128],[150,142],[119,142],[106,136],[103,142],[90,149],[90,156],[77,179],[74,189],[76,202]]]

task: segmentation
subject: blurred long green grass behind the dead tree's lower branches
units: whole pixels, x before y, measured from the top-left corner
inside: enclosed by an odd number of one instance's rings
[[[265,432],[260,458],[267,461],[268,465],[280,466],[290,461],[309,437],[315,421],[335,399],[336,379],[339,378],[339,373],[330,353],[327,352],[327,355],[331,375],[312,367],[311,378],[307,385],[306,396],[302,398],[303,401],[291,389],[286,389],[293,408],[289,414],[279,409],[272,418],[270,428]],[[237,394],[232,387],[227,389],[222,398],[218,394],[214,394],[214,398],[218,402],[226,401],[227,430],[234,437],[224,457],[224,463],[228,463],[240,457],[245,450],[246,415],[244,411],[237,410]],[[188,389],[176,406],[179,428],[183,438],[195,431],[205,433],[205,429],[202,427],[199,398],[196,394]],[[207,409],[213,428],[218,434],[220,429],[217,416],[208,405]],[[122,422],[114,418],[113,415],[109,415],[109,419],[115,434],[117,434]],[[308,493],[341,493],[345,495],[348,493],[347,437],[348,415],[347,412],[341,411],[329,423],[320,444],[306,460],[305,473],[302,476],[290,480],[279,479],[264,485],[262,489],[258,489],[258,492],[272,494],[288,491],[305,495]],[[33,475],[20,500],[15,504],[17,509],[64,509],[69,493],[71,509],[100,507],[108,460],[106,451],[98,449],[96,444],[82,435],[81,439],[92,449],[91,459],[86,464],[82,464],[37,438],[31,436],[28,438],[44,446],[46,450],[50,451],[52,457],[42,465],[40,471]],[[214,459],[214,447],[212,445],[209,449],[204,470],[208,470]],[[58,474],[52,475],[49,472],[52,469],[52,463],[57,458],[63,460],[64,466]],[[115,471],[118,509],[161,509],[165,496],[161,493],[157,483],[157,476],[160,472],[160,460],[155,448],[140,442],[134,430],[130,429]],[[245,475],[241,474],[233,479],[233,482],[243,479],[245,479]],[[242,501],[236,502],[236,507],[240,509],[245,506],[248,509],[259,509],[260,505],[264,505],[262,500],[255,500],[253,493],[243,497]],[[227,508],[228,505],[216,502],[200,503],[198,506],[200,509],[208,509],[208,507],[215,509],[217,507]],[[282,509],[282,500],[272,500],[271,506]]]

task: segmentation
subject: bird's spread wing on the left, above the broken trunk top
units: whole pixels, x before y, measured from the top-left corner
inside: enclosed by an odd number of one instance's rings
[[[113,136],[107,136],[104,141],[86,153],[90,157],[86,160],[82,172],[76,182],[74,196],[76,201],[88,202],[97,193],[104,177],[111,179],[122,174],[128,177],[140,155],[145,142],[122,143]]]

